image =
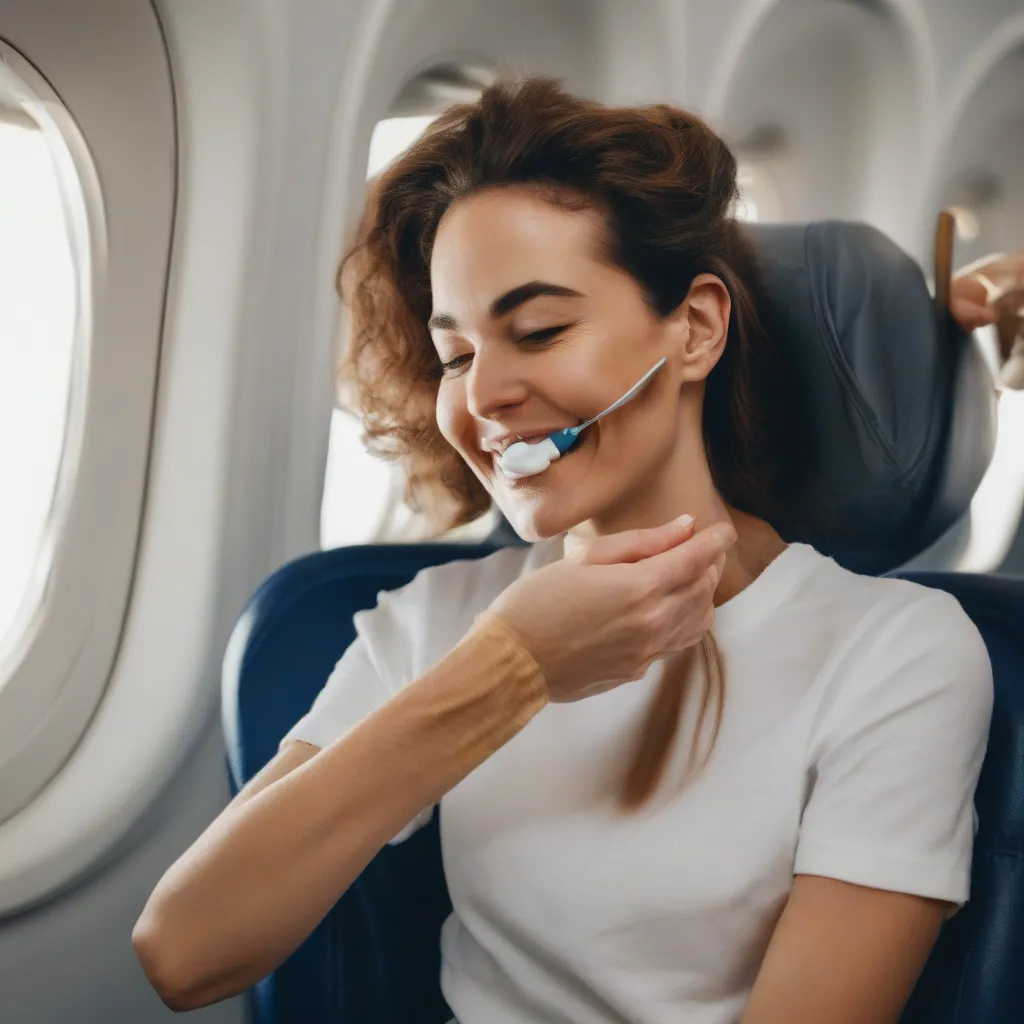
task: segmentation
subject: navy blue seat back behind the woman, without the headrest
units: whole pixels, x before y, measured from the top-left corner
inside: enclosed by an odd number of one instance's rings
[[[353,638],[352,615],[419,569],[490,545],[343,548],[286,565],[256,593],[224,663],[232,785],[273,757]],[[995,710],[976,806],[972,897],[943,928],[905,1024],[1019,1024],[1024,1008],[1024,581],[907,573],[980,629]],[[451,911],[437,816],[385,847],[321,926],[252,993],[257,1024],[444,1024],[438,933]]]

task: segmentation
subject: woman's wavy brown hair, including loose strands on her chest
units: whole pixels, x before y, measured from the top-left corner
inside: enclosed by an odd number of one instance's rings
[[[401,460],[410,504],[439,527],[484,512],[489,497],[435,421],[440,361],[427,332],[430,253],[449,207],[481,188],[526,185],[552,202],[596,209],[608,259],[658,315],[701,272],[732,301],[728,337],[708,378],[705,446],[715,485],[735,508],[773,521],[784,415],[780,361],[758,314],[757,273],[732,218],[736,162],[698,117],[667,104],[607,108],[538,77],[507,78],[451,108],[374,182],[355,245],[338,273],[350,310],[340,371],[372,451]],[[692,752],[715,708],[707,762],[722,720],[724,668],[711,634]],[[622,799],[637,807],[660,780],[679,727],[692,651],[666,665]],[[693,757],[690,759],[693,767]]]

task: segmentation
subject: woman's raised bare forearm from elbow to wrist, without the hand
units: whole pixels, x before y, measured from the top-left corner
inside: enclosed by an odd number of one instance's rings
[[[174,1010],[237,994],[316,927],[377,851],[546,701],[497,620],[323,751],[286,746],[161,880],[135,926]]]

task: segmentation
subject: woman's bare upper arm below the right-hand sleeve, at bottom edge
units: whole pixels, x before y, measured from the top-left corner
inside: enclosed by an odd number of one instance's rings
[[[798,876],[742,1024],[896,1024],[947,906]]]

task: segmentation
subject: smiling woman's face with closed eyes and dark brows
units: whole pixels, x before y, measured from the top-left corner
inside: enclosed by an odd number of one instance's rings
[[[666,474],[685,472],[678,463],[694,438],[687,445],[683,434],[695,433],[702,457],[699,395],[687,417],[685,385],[702,381],[717,354],[694,356],[707,332],[692,331],[689,297],[663,319],[603,258],[602,227],[597,213],[490,189],[447,211],[433,248],[430,332],[444,364],[437,423],[529,541],[629,520],[630,505],[664,490]],[[662,356],[668,366],[640,395],[547,470],[520,480],[502,473],[498,455],[517,435],[536,440],[590,419]]]

